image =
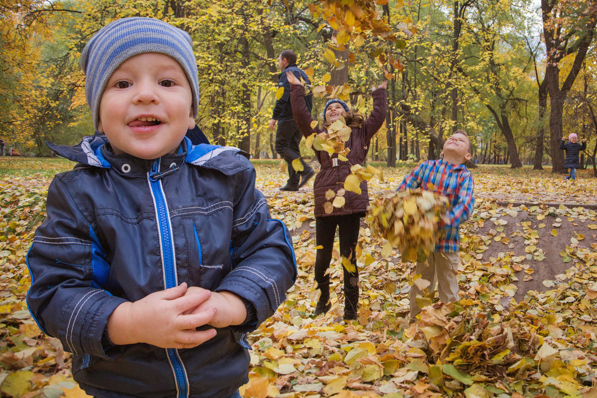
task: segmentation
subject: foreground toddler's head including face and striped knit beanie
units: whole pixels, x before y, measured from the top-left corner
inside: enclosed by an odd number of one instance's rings
[[[190,36],[153,18],[104,26],[81,54],[96,129],[116,153],[156,159],[195,126],[198,75]]]

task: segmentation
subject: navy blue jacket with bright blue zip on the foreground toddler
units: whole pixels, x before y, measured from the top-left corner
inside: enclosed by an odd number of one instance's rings
[[[296,279],[288,230],[270,219],[238,148],[184,138],[178,153],[146,161],[106,143],[49,144],[79,165],[48,189],[47,218],[27,254],[27,306],[74,353],[73,376],[87,394],[228,397],[248,380],[244,334]],[[190,349],[109,341],[107,319],[119,304],[182,282],[233,292],[254,307],[253,319]]]

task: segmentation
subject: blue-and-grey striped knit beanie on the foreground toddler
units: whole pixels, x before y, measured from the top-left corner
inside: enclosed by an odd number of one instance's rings
[[[193,112],[197,116],[199,77],[193,41],[189,34],[154,18],[122,18],[102,27],[81,53],[85,73],[85,97],[97,129],[100,101],[112,73],[128,58],[143,53],[161,53],[176,60],[189,80]]]

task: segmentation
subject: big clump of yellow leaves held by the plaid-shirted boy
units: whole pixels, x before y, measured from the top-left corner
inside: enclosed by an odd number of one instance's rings
[[[383,236],[402,254],[402,261],[424,261],[439,240],[439,221],[448,199],[428,190],[384,191],[371,203],[371,232]]]

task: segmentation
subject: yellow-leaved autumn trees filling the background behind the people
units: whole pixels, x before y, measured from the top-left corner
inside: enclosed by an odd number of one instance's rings
[[[78,66],[82,48],[110,21],[146,16],[190,33],[199,127],[213,143],[253,158],[276,158],[267,121],[277,57],[291,48],[314,87],[328,96],[346,85],[343,97],[361,113],[371,108],[371,86],[389,78],[389,112],[371,160],[394,166],[437,158],[443,138],[463,128],[479,163],[553,164],[562,172],[559,140],[576,132],[587,138],[583,166],[592,164],[597,176],[597,2],[380,0],[378,17],[395,35],[387,40],[370,30],[346,47],[337,45],[334,22],[312,12],[318,2],[311,10],[310,4],[2,0],[0,138],[7,149],[48,156],[46,140],[75,144],[93,134]],[[315,100],[314,115],[325,100]],[[304,147],[303,153],[312,155]]]

